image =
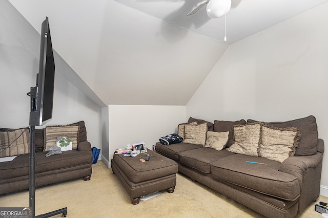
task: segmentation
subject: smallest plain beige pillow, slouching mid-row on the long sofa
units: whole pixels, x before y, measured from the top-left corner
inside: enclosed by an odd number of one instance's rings
[[[205,147],[222,150],[228,143],[229,132],[212,132],[208,131],[206,135]]]

